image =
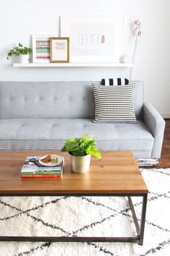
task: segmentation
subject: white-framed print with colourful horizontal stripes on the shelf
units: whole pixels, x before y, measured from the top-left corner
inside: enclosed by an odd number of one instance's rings
[[[32,35],[32,62],[50,62],[50,38],[54,35]]]

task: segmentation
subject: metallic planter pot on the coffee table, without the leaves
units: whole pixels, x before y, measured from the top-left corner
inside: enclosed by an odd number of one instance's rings
[[[70,154],[71,171],[83,174],[89,171],[91,155],[75,156]]]

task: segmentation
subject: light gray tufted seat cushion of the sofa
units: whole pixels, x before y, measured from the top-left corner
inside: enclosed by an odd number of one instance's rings
[[[1,119],[1,150],[60,150],[66,140],[93,135],[99,150],[132,150],[151,157],[153,136],[137,124],[93,123],[92,119]],[[137,154],[138,155],[138,154]]]

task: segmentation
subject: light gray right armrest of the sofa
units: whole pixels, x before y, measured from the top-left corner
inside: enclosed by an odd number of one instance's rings
[[[161,158],[165,121],[151,103],[143,103],[143,121],[153,135],[152,158]]]

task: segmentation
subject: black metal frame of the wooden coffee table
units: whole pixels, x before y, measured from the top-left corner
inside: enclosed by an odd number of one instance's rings
[[[148,194],[132,194],[132,193],[119,193],[119,194],[75,194],[75,193],[55,193],[55,194],[9,194],[4,195],[0,194],[0,197],[36,197],[36,196],[73,196],[73,197],[128,197],[128,202],[130,205],[130,210],[133,215],[133,221],[135,223],[135,228],[137,232],[137,236],[123,236],[123,237],[92,237],[92,236],[0,236],[1,242],[138,242],[138,244],[143,245],[143,236],[145,229],[145,221],[146,221],[146,205],[147,205],[147,197]],[[135,214],[135,209],[133,206],[133,202],[131,197],[143,197],[142,202],[142,210],[141,210],[141,219],[140,225],[138,223],[138,218]]]

